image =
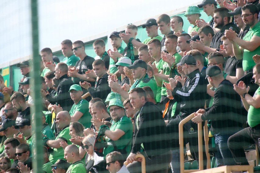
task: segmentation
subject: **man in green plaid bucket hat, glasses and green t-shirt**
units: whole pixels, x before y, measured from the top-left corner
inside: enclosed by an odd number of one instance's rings
[[[125,108],[120,99],[112,99],[109,102],[107,111],[113,119],[112,126],[104,125],[104,122],[92,118],[92,123],[107,136],[107,147],[104,148],[104,158],[112,151],[120,151],[126,158],[131,150],[133,126],[132,121],[125,116]]]

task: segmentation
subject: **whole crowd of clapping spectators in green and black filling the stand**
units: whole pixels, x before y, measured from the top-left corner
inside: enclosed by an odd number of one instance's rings
[[[61,42],[63,62],[44,48],[34,57],[42,58],[42,115],[30,108],[32,64],[18,63],[19,90],[0,76],[0,171],[34,172],[35,116],[42,118],[46,173],[141,172],[136,154],[146,158],[146,172],[178,173],[179,122],[192,113],[183,136],[194,160],[197,124],[207,120],[212,146],[205,151],[202,144],[204,169],[206,152],[217,166],[248,165],[244,147],[260,148],[259,10],[259,0],[203,0],[185,18],[148,19],[144,41],[133,24],[110,34],[112,50],[94,41],[95,58],[82,41]],[[184,20],[193,25],[189,33]]]

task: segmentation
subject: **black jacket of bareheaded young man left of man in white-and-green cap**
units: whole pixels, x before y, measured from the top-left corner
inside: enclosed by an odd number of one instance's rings
[[[95,88],[88,88],[88,92],[92,95],[93,98],[100,98],[105,102],[107,95],[111,93],[111,88],[108,86],[108,74],[100,77],[95,85]]]

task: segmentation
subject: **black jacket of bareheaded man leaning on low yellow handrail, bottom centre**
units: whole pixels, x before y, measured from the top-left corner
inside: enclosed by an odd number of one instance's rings
[[[136,154],[142,143],[148,157],[161,155],[170,150],[166,125],[159,107],[152,102],[146,102],[140,111],[135,113],[134,120],[135,132],[131,153]],[[139,122],[138,127],[136,122]]]

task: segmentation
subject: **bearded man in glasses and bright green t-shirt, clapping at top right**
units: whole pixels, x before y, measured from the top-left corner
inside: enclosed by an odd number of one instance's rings
[[[233,30],[226,30],[225,36],[233,44],[233,52],[237,59],[243,59],[244,72],[252,72],[255,62],[253,56],[260,54],[260,22],[258,22],[258,9],[255,5],[249,4],[242,7],[242,15],[246,26],[250,30],[243,39],[237,37]]]

